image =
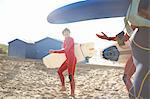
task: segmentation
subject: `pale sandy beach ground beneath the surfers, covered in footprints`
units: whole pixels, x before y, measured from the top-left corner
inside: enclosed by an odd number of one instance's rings
[[[1,99],[72,99],[67,71],[67,91],[60,92],[57,69],[47,69],[41,61],[0,57]],[[76,99],[128,99],[122,81],[123,68],[78,64]]]

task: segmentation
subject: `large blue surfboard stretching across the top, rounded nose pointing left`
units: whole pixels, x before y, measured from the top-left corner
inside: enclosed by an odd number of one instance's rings
[[[126,15],[129,0],[86,0],[72,3],[51,12],[47,20],[53,24],[122,17]]]

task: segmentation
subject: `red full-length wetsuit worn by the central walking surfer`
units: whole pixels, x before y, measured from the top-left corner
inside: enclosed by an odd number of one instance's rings
[[[74,53],[74,40],[72,37],[65,38],[63,48],[63,50],[55,50],[54,53],[65,53],[66,55],[66,61],[58,69],[58,74],[60,76],[62,86],[65,86],[63,72],[68,69],[68,74],[71,76],[71,80],[74,81],[74,72],[77,63],[77,59]],[[72,87],[74,87],[74,85],[71,85],[71,89]]]

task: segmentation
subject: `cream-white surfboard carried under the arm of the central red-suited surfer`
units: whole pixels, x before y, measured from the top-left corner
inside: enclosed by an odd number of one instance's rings
[[[92,50],[91,50],[92,49]],[[85,57],[94,55],[94,43],[84,43],[75,45],[75,56],[77,63],[84,61]],[[59,68],[66,60],[65,53],[52,53],[43,58],[43,63],[47,68]]]

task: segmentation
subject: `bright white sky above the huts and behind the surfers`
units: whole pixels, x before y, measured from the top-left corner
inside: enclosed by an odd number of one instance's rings
[[[97,48],[113,44],[97,38],[95,34],[105,32],[108,36],[115,36],[124,28],[122,17],[69,24],[47,22],[50,12],[77,1],[81,0],[0,0],[0,43],[8,44],[16,38],[27,42],[45,37],[63,40],[61,32],[67,27],[76,43],[94,42]]]

